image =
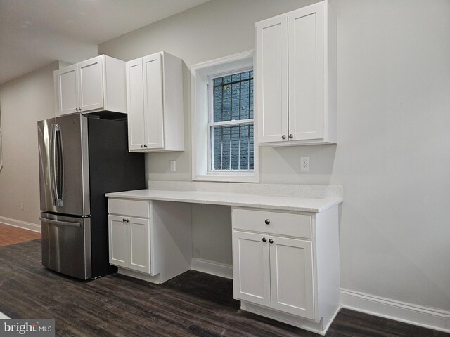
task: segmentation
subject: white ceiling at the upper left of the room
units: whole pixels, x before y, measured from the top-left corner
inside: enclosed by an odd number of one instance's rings
[[[0,84],[207,0],[0,0]]]

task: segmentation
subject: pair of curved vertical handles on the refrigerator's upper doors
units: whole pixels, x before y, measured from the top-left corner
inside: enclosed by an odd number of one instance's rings
[[[53,194],[53,205],[63,206],[64,190],[64,162],[63,162],[63,140],[61,127],[53,124],[51,137],[51,188]]]

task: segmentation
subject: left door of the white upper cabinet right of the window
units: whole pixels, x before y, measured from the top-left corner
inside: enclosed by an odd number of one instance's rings
[[[257,22],[256,58],[258,141],[288,142],[287,15]]]

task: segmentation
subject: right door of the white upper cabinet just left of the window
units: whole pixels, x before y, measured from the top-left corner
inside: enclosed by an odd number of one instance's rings
[[[143,60],[144,115],[149,149],[164,147],[164,112],[162,105],[162,58],[160,53]]]

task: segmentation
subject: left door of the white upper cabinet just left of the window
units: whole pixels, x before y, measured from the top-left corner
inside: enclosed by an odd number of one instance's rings
[[[141,150],[145,143],[142,59],[127,62],[128,148]]]

